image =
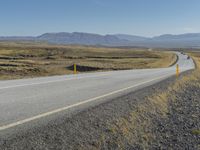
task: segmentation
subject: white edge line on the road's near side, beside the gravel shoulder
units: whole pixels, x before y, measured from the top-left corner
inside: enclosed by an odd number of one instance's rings
[[[89,102],[92,102],[92,101],[96,101],[100,98],[104,98],[104,97],[107,97],[107,96],[110,96],[110,95],[113,95],[113,94],[116,94],[116,93],[120,93],[120,92],[126,91],[128,89],[131,89],[131,88],[134,88],[134,87],[137,87],[137,86],[140,86],[140,85],[143,85],[143,84],[155,81],[155,80],[164,79],[164,78],[170,77],[172,75],[173,74],[170,73],[170,74],[167,74],[167,75],[164,75],[164,76],[161,76],[161,77],[158,77],[158,78],[154,78],[154,79],[151,79],[151,80],[148,80],[148,81],[144,81],[144,82],[141,82],[141,83],[138,83],[138,84],[135,84],[135,85],[132,85],[132,86],[120,89],[120,90],[116,90],[116,91],[113,91],[113,92],[110,92],[110,93],[107,93],[107,94],[104,94],[104,95],[101,95],[101,96],[98,96],[98,97],[94,97],[94,98],[91,98],[91,99],[88,99],[88,100],[85,100],[85,101],[82,101],[82,102],[79,102],[79,103],[76,103],[76,104],[73,104],[73,105],[70,105],[70,106],[55,109],[55,110],[52,110],[52,111],[31,117],[31,118],[27,118],[27,119],[20,120],[20,121],[14,122],[14,123],[10,123],[8,125],[3,125],[3,126],[0,126],[0,131],[6,130],[6,129],[9,129],[9,128],[13,128],[13,127],[16,127],[16,126],[19,126],[19,125],[40,119],[40,118],[44,118],[44,117],[50,116],[52,114],[65,111],[65,110],[68,110],[70,108],[73,108],[73,107],[76,107],[76,106],[79,106],[79,105],[83,105],[83,104],[86,104],[86,103],[89,103]]]

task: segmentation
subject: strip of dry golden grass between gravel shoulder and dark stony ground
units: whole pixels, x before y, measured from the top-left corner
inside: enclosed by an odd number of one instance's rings
[[[143,149],[148,149],[149,143],[156,139],[154,133],[150,131],[154,124],[151,116],[165,118],[169,113],[169,100],[175,100],[176,95],[174,93],[184,91],[184,88],[190,84],[200,88],[200,53],[190,53],[189,55],[195,60],[197,68],[191,74],[177,79],[167,90],[158,91],[148,97],[145,102],[138,104],[129,115],[108,124],[108,130],[112,134],[110,137],[116,137],[110,139],[110,142],[115,145],[118,144],[121,149],[124,149],[127,143],[142,145]],[[193,130],[192,133],[199,135],[199,129]],[[106,138],[99,140],[100,145],[105,142]]]

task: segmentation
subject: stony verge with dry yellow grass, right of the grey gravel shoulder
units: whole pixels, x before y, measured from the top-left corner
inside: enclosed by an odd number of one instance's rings
[[[200,53],[189,55],[197,68],[108,124],[110,135],[102,135],[99,148],[200,149]]]

